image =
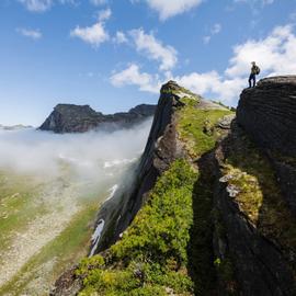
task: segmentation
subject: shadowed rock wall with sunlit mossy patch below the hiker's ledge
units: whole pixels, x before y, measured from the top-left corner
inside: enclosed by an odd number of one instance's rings
[[[295,295],[296,219],[270,160],[235,122],[215,159],[214,249],[228,264],[221,288],[230,270],[239,295]]]

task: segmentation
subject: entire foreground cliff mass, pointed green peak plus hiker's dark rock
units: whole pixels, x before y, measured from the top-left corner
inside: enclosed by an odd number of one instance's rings
[[[237,119],[164,84],[135,175],[99,213],[98,254],[53,295],[296,295],[296,217],[282,184],[293,171],[278,169],[293,167],[293,145],[281,150],[264,129],[296,128],[293,116],[284,124],[295,89],[291,77],[266,81],[242,92]]]

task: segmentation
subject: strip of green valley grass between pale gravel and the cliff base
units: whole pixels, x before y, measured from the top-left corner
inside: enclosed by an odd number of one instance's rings
[[[58,237],[42,248],[9,283],[0,288],[0,295],[5,295],[8,292],[11,295],[24,293],[27,284],[36,277],[41,267],[53,259],[55,259],[54,269],[41,276],[45,277],[47,283],[54,283],[66,267],[86,255],[92,231],[90,221],[95,217],[96,210],[98,203],[93,203],[75,215]],[[48,295],[46,292],[36,293],[36,295]]]

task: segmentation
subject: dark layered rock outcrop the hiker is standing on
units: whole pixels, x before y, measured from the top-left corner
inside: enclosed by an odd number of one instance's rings
[[[272,159],[296,213],[296,76],[266,78],[244,90],[237,121]]]

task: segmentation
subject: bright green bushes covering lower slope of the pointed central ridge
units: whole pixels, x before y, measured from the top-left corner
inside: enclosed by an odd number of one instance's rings
[[[192,295],[186,246],[197,173],[177,160],[157,181],[147,204],[103,259],[83,259],[80,295]]]

